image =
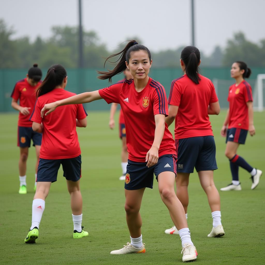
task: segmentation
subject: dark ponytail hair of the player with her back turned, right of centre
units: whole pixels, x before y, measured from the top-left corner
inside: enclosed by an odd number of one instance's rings
[[[185,71],[188,76],[195,84],[199,83],[199,63],[201,54],[198,48],[194,46],[186,46],[182,52],[180,58],[185,64]]]

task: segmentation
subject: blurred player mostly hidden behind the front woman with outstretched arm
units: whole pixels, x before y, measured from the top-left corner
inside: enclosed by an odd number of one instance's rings
[[[123,74],[125,78],[121,81],[125,80],[131,80],[133,79],[133,76],[131,75],[131,72],[129,69],[125,69],[123,71]],[[119,82],[121,82],[119,81]],[[118,82],[118,83],[119,83]],[[109,127],[113,130],[115,126],[115,121],[114,121],[114,114],[117,109],[117,103],[112,103],[111,104],[111,111],[110,111],[110,117],[109,117]],[[126,130],[125,130],[125,121],[124,121],[124,115],[122,112],[122,109],[120,110],[120,118],[119,118],[119,128],[120,128],[120,138],[122,141],[122,148],[121,148],[121,169],[122,169],[122,176],[120,176],[120,180],[125,180],[125,175],[126,175],[126,167],[128,164],[128,152],[127,152],[127,144],[126,144]]]

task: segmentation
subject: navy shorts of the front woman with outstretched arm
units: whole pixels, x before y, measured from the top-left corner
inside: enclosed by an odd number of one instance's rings
[[[176,174],[176,155],[165,154],[158,158],[156,165],[146,166],[147,162],[134,162],[128,159],[128,165],[125,176],[125,189],[153,188],[154,174],[156,180],[158,175],[164,171],[171,171]]]

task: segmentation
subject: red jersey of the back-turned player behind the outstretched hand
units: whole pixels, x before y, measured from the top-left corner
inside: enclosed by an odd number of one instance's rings
[[[76,118],[82,120],[87,116],[82,104],[60,106],[41,118],[41,109],[45,104],[74,95],[76,94],[58,88],[38,97],[30,120],[43,125],[40,158],[64,159],[81,154]]]

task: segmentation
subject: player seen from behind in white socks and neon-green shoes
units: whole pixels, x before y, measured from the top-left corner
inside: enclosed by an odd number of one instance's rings
[[[35,243],[39,236],[39,224],[45,209],[52,182],[57,180],[60,165],[63,167],[68,191],[71,197],[74,223],[73,238],[88,236],[83,231],[82,195],[80,192],[81,150],[76,127],[86,127],[86,111],[82,104],[58,108],[49,116],[41,118],[44,104],[75,95],[66,91],[67,74],[60,65],[52,65],[42,85],[37,90],[37,101],[30,117],[32,129],[43,133],[37,172],[37,189],[32,202],[32,224],[25,238],[26,243]]]

